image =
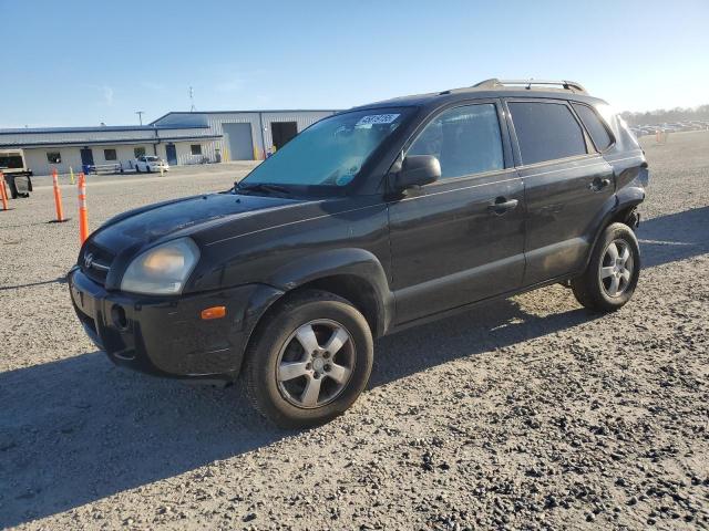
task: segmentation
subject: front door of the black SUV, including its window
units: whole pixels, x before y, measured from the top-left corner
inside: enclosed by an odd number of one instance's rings
[[[442,175],[389,204],[397,324],[522,284],[524,185],[501,117],[495,102],[448,108],[405,150]]]

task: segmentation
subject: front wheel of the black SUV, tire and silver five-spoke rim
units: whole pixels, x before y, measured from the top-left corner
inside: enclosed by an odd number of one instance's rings
[[[302,291],[279,303],[254,332],[246,352],[247,393],[281,428],[319,426],[357,400],[372,360],[371,331],[349,301]]]

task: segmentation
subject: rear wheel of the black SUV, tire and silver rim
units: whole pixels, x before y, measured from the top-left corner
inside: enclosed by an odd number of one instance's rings
[[[630,300],[639,275],[640,248],[635,233],[627,225],[612,223],[596,242],[586,271],[572,280],[572,290],[585,308],[614,312]]]

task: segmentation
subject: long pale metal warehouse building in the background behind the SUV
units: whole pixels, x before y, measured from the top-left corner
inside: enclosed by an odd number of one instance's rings
[[[0,129],[0,150],[22,150],[34,175],[84,165],[131,167],[141,155],[171,166],[263,159],[336,111],[173,112],[144,126]]]

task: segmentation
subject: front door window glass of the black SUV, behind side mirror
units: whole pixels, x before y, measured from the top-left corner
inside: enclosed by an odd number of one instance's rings
[[[425,126],[407,155],[436,157],[442,179],[503,169],[495,105],[466,105],[442,112]]]

